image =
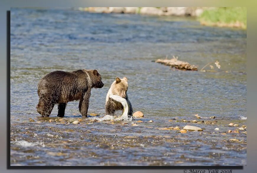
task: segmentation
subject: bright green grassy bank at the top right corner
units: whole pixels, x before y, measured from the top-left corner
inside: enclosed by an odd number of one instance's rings
[[[246,7],[206,9],[200,16],[202,25],[246,29]]]

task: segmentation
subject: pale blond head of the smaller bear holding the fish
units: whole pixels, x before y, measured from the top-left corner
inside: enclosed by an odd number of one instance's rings
[[[122,98],[127,97],[128,90],[128,78],[123,77],[123,79],[116,78],[116,81],[112,85],[112,94],[119,95]]]

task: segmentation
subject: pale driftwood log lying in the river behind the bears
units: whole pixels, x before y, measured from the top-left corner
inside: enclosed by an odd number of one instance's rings
[[[178,58],[172,58],[172,59],[157,59],[155,61],[156,63],[164,64],[165,66],[175,67],[180,70],[193,70],[197,71],[197,67],[194,65],[189,64],[185,61],[180,61]]]

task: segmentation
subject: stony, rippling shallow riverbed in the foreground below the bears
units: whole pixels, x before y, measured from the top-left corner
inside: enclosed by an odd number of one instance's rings
[[[246,120],[234,121],[241,126],[236,127],[219,118],[157,118],[150,123],[147,117],[129,122],[100,122],[96,117],[12,123],[11,165],[246,164]]]

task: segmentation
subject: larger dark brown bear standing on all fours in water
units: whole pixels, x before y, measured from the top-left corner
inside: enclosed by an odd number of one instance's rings
[[[103,86],[97,70],[53,71],[38,82],[37,111],[42,117],[49,117],[54,105],[58,104],[57,116],[64,117],[67,102],[79,100],[79,112],[87,117],[91,89]]]

